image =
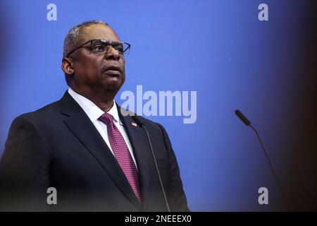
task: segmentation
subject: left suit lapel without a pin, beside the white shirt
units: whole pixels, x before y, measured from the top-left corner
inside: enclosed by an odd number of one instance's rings
[[[61,113],[66,115],[64,118],[65,124],[70,131],[74,133],[77,139],[85,145],[89,153],[91,153],[99,164],[104,168],[108,175],[116,183],[118,189],[140,209],[141,205],[137,201],[128,179],[125,177],[123,170],[120,168],[116,158],[111,153],[104,139],[92,124],[84,110],[77,104],[73,97],[66,91],[63,98],[60,100]]]

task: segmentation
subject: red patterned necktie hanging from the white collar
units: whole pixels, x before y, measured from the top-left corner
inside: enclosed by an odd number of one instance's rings
[[[127,177],[130,186],[135,192],[135,196],[141,203],[141,191],[139,188],[139,174],[135,162],[132,160],[132,156],[129,152],[128,146],[125,143],[125,139],[121,135],[117,126],[113,123],[113,117],[111,114],[104,113],[99,118],[107,126],[108,138],[111,144],[113,153],[123,170],[125,177]]]

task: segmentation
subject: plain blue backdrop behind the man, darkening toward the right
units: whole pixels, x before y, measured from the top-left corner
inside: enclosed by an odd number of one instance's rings
[[[46,6],[57,6],[57,21]],[[268,21],[258,6],[268,4]],[[282,210],[259,130],[289,201],[316,209],[316,4],[314,1],[2,1],[0,154],[11,121],[59,100],[63,40],[104,20],[132,44],[121,88],[197,91],[197,121],[163,124],[193,211]],[[120,100],[118,93],[116,100]],[[269,190],[259,205],[258,189]]]

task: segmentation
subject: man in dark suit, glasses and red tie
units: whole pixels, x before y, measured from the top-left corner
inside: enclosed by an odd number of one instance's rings
[[[17,117],[0,162],[3,210],[166,211],[147,134],[114,97],[125,81],[125,55],[106,23],[72,28],[61,100]],[[163,126],[149,131],[170,209],[187,211],[178,163]],[[47,189],[57,204],[47,203]]]

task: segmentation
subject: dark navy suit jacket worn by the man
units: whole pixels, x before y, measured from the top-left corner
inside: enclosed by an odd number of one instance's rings
[[[0,208],[3,210],[166,211],[147,135],[118,107],[135,154],[142,204],[97,129],[68,92],[61,100],[17,117],[0,162]],[[171,210],[185,211],[187,200],[168,134],[147,126]],[[46,189],[57,190],[48,205]]]

